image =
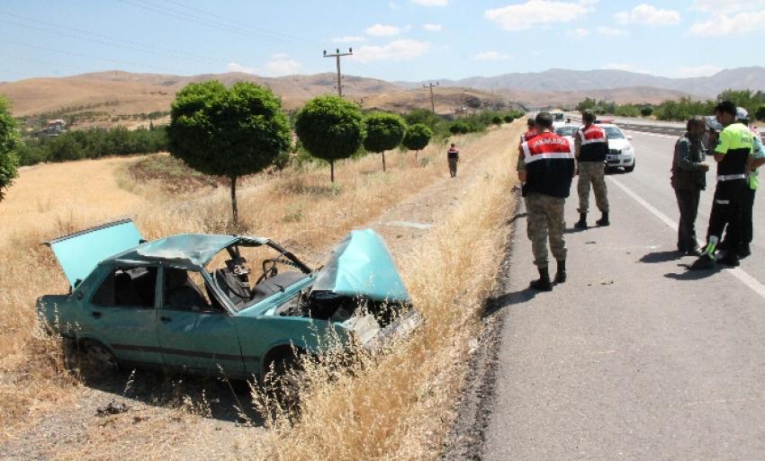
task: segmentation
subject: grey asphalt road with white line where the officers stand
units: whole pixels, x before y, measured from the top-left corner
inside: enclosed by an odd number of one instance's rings
[[[637,164],[609,176],[612,225],[567,234],[569,280],[551,293],[527,289],[517,221],[482,459],[765,458],[765,199],[740,269],[689,272],[671,227],[674,139],[630,134]],[[570,225],[576,202],[572,187]]]

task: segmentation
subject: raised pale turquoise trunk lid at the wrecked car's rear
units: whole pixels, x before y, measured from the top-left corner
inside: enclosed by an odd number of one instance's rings
[[[45,244],[56,255],[69,285],[75,288],[99,262],[140,244],[141,235],[131,219],[95,226],[64,235]]]

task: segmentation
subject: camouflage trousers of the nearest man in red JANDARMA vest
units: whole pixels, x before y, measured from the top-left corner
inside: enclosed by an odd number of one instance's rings
[[[563,230],[563,204],[566,199],[551,197],[537,192],[529,192],[526,196],[527,234],[531,240],[531,251],[534,253],[536,267],[547,267],[547,239],[550,239],[550,251],[555,260],[566,259],[566,240]]]

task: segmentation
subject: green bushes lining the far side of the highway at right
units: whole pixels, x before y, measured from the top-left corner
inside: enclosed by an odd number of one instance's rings
[[[694,101],[691,98],[664,101],[660,104],[618,104],[587,98],[576,106],[577,111],[590,109],[603,115],[617,117],[655,117],[656,120],[685,121],[694,115],[712,115],[717,102],[733,101],[746,109],[752,120],[765,121],[765,93],[751,90],[725,90],[716,100]]]

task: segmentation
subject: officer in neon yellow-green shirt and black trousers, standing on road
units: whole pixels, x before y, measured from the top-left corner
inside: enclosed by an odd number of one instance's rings
[[[736,106],[724,101],[715,108],[717,121],[723,125],[719,141],[715,147],[717,162],[717,185],[712,212],[707,228],[707,246],[704,253],[691,266],[691,270],[712,269],[715,267],[715,253],[720,237],[727,227],[728,241],[733,245],[719,260],[728,266],[739,265],[738,243],[741,241],[741,207],[744,190],[747,187],[746,170],[754,146],[752,131],[743,123],[736,121]]]

